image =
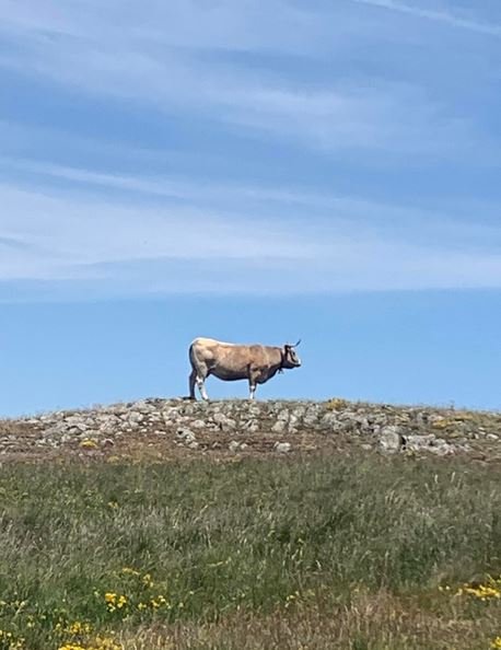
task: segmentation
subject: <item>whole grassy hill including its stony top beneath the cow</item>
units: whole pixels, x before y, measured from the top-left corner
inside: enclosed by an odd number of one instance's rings
[[[3,421],[0,649],[501,647],[498,426],[341,401]]]

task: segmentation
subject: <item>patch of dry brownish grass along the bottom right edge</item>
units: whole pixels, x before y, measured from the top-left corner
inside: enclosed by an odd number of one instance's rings
[[[130,650],[486,650],[500,629],[498,604],[468,605],[357,593],[345,606],[299,604],[270,616],[238,613],[215,623],[152,626],[123,636]]]

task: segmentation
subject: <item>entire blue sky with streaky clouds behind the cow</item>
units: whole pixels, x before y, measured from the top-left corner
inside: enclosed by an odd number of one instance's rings
[[[0,414],[183,394],[197,335],[499,408],[500,55],[498,0],[2,0]]]

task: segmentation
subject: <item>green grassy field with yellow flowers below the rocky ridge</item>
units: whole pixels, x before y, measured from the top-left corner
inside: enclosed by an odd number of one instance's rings
[[[19,463],[0,512],[0,650],[501,648],[499,467]]]

